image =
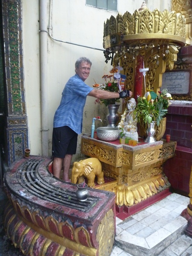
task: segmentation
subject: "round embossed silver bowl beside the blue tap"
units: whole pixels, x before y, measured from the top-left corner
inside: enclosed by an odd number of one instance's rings
[[[119,129],[115,127],[98,127],[97,137],[104,141],[117,140],[119,136]]]

